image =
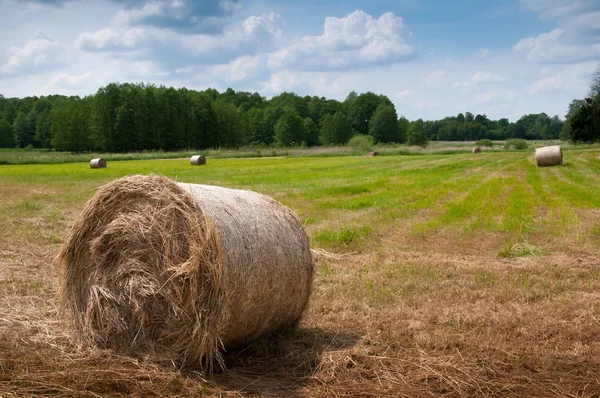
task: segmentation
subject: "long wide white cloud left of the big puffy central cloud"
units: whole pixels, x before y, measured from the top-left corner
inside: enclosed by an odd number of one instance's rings
[[[169,66],[214,65],[271,48],[281,35],[280,23],[279,15],[270,13],[249,17],[218,35],[181,35],[152,27],[105,28],[81,34],[76,45],[83,51],[155,60]]]

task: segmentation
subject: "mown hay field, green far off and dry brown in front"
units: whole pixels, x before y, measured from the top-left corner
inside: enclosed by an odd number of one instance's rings
[[[0,396],[600,396],[600,149],[0,166]],[[316,273],[295,331],[213,375],[78,346],[52,260],[128,174],[295,210]]]

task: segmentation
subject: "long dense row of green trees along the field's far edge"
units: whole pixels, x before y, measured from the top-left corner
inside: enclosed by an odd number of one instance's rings
[[[576,121],[567,124],[545,113],[511,123],[470,112],[411,122],[398,116],[387,96],[354,91],[344,101],[290,92],[266,99],[231,88],[220,93],[110,83],[84,98],[0,95],[0,147],[71,152],[343,145],[358,134],[370,135],[376,143],[409,145],[555,139],[566,136],[565,126],[578,126]]]

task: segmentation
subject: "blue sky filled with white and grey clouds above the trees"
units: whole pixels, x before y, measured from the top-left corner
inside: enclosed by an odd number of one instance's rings
[[[564,117],[600,65],[599,21],[600,0],[0,0],[0,94],[372,91],[409,120]]]

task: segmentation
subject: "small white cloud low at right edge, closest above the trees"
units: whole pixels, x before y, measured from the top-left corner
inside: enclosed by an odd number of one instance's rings
[[[529,87],[529,94],[574,88],[585,89],[589,85],[592,73],[597,66],[598,63],[594,61],[567,65],[561,72],[534,82]]]

